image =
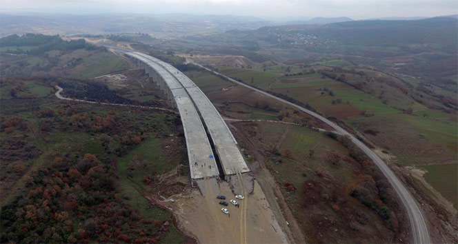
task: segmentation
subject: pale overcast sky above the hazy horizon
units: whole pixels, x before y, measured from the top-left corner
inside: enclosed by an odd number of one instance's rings
[[[188,13],[263,17],[433,17],[458,13],[457,0],[0,0],[31,12]]]

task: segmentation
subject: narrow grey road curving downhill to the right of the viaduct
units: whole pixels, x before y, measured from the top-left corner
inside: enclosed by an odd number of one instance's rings
[[[336,125],[332,121],[326,119],[325,117],[317,114],[316,112],[312,112],[306,108],[303,108],[295,103],[291,103],[290,101],[286,101],[285,99],[281,99],[277,96],[274,96],[272,94],[269,94],[268,92],[264,92],[262,90],[259,90],[257,88],[253,88],[250,85],[246,85],[245,83],[241,83],[239,81],[236,81],[235,79],[232,79],[230,77],[227,77],[224,74],[221,74],[219,72],[216,72],[214,70],[210,70],[209,68],[206,68],[203,65],[200,65],[199,63],[194,63],[190,62],[192,64],[198,65],[201,68],[204,68],[210,72],[213,72],[214,74],[221,75],[223,77],[226,77],[231,81],[232,83],[236,83],[237,85],[242,85],[248,89],[255,90],[256,92],[259,92],[265,96],[268,96],[272,99],[275,99],[277,101],[280,101],[281,103],[285,103],[287,105],[290,105],[294,108],[297,108],[298,110],[301,110],[302,112],[306,112],[307,114],[310,114],[311,116],[314,116],[315,118],[323,121],[324,123],[328,124],[332,128],[334,128],[339,134],[342,134],[344,136],[348,136],[348,138],[357,145],[358,148],[363,150],[364,153],[366,153],[372,161],[374,161],[375,165],[379,167],[381,172],[384,173],[388,181],[391,183],[392,187],[395,189],[399,197],[401,198],[402,203],[404,204],[404,207],[406,207],[406,210],[408,212],[408,216],[410,219],[410,226],[412,226],[412,233],[413,233],[413,241],[414,243],[430,243],[430,238],[428,234],[428,228],[426,227],[426,222],[424,220],[423,214],[421,214],[421,210],[419,209],[417,202],[415,199],[412,197],[410,192],[402,185],[401,181],[397,179],[397,176],[390,170],[388,165],[382,161],[377,154],[372,152],[370,148],[368,148],[364,143],[359,141],[355,136],[352,136],[352,134],[348,133],[346,130],[341,128],[339,125]]]

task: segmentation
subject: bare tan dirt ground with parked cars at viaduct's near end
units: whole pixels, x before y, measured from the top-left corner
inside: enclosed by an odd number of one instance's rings
[[[163,201],[161,205],[168,207],[177,217],[179,228],[199,243],[290,242],[252,176],[235,175],[228,181],[199,180],[199,188],[172,196],[173,201]],[[245,199],[235,199],[235,194],[243,194]],[[226,196],[227,207],[219,205],[218,195]],[[231,199],[240,206],[232,205]],[[229,214],[221,212],[222,207],[226,207]]]

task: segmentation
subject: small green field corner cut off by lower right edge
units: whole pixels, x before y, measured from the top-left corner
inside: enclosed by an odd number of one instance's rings
[[[419,167],[427,171],[426,174],[424,174],[424,179],[444,196],[444,198],[450,201],[455,209],[458,209],[457,164],[424,165]]]

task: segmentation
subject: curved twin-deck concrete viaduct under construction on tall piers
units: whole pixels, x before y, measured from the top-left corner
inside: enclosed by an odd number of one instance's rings
[[[113,49],[137,61],[179,110],[192,180],[250,172],[228,125],[191,79],[155,57],[132,50]]]

